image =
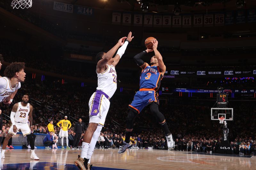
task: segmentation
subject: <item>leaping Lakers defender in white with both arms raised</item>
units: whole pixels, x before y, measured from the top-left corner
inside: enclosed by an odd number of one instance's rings
[[[104,127],[110,105],[109,99],[113,96],[117,88],[115,67],[132,39],[132,32],[130,32],[128,37],[121,38],[107,53],[100,52],[96,55],[98,87],[89,100],[89,125],[83,137],[81,156],[78,155],[78,159],[75,161],[75,165],[81,170],[91,169],[90,159],[97,139],[100,136],[100,131]],[[120,46],[122,47],[119,48]],[[117,49],[116,56],[112,58]]]

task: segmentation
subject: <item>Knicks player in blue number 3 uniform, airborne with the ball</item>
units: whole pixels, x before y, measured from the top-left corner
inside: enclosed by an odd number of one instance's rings
[[[130,136],[132,136],[133,129],[133,119],[140,114],[141,110],[149,105],[151,112],[156,116],[157,122],[159,122],[165,133],[167,139],[168,148],[171,149],[174,147],[174,141],[172,139],[172,134],[168,129],[167,123],[165,121],[164,115],[158,110],[159,101],[157,90],[159,89],[161,79],[164,76],[166,67],[163,62],[163,57],[157,50],[158,41],[154,39],[153,50],[146,49],[141,53],[134,56],[135,62],[142,69],[141,78],[140,78],[140,90],[136,92],[132,104],[129,105],[129,113],[127,116],[126,123],[126,138],[123,146],[119,149],[118,153],[125,152],[126,149],[132,147],[132,142],[130,141]],[[149,52],[155,52],[155,55],[151,57],[150,64],[145,63],[141,57]]]

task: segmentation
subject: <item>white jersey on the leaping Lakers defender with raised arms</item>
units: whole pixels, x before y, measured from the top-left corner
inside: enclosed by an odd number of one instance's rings
[[[108,65],[108,64],[107,64]],[[97,72],[97,71],[96,71]],[[116,91],[116,69],[113,65],[108,65],[106,71],[102,73],[97,73],[98,76],[98,87],[97,90],[100,90],[108,95],[108,97],[112,97]]]

